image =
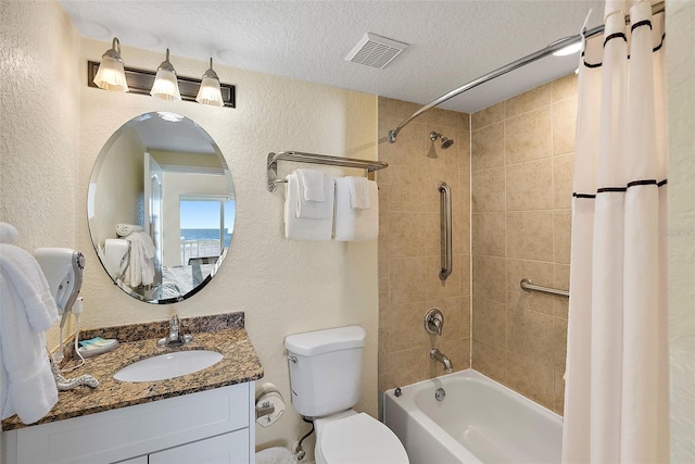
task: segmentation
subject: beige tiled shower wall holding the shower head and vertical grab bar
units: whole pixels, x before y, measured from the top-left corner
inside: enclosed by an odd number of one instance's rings
[[[407,125],[397,141],[388,140],[420,105],[379,98],[379,391],[444,373],[430,360],[439,348],[456,371],[470,363],[470,138],[469,116],[433,109]],[[430,131],[455,143],[446,150]],[[452,189],[454,265],[442,284],[440,272],[440,193]],[[444,313],[444,333],[425,331],[430,308]]]

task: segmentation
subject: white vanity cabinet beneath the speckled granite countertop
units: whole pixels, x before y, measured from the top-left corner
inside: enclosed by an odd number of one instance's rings
[[[253,381],[2,434],[12,463],[251,463]]]

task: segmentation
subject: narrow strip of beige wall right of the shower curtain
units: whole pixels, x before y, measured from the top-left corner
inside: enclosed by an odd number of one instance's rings
[[[695,2],[666,2],[671,462],[695,462]]]

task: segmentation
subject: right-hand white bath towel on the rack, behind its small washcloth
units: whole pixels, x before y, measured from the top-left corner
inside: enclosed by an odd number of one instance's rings
[[[366,180],[366,179],[365,179]],[[336,179],[336,240],[369,241],[379,236],[379,189],[367,180],[369,208],[353,210],[350,202],[350,180]]]

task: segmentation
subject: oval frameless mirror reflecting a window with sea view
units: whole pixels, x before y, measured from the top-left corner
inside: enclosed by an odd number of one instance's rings
[[[174,303],[200,291],[227,255],[231,175],[195,122],[146,113],[116,130],[99,153],[87,216],[114,284],[148,303]]]

